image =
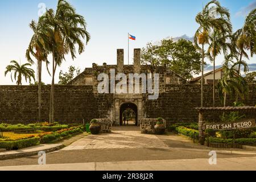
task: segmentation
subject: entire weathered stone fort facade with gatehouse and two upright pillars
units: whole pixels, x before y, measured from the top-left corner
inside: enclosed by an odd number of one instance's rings
[[[141,119],[159,118],[170,122],[198,122],[195,107],[200,106],[200,85],[182,84],[182,78],[165,66],[157,67],[159,73],[159,98],[148,100],[148,94],[115,94],[97,92],[97,76],[100,73],[149,73],[150,67],[141,65],[140,49],[134,50],[134,65],[123,64],[123,49],[117,50],[117,65],[93,64],[69,85],[55,86],[55,119],[61,123],[89,122],[93,118],[108,118],[120,125],[122,111],[133,109],[136,124]],[[212,85],[204,85],[204,106],[212,106]],[[48,121],[51,86],[42,86],[42,119]],[[256,105],[256,84],[250,85],[245,103]],[[217,94],[216,94],[217,95]],[[228,98],[227,105],[232,105]],[[216,106],[222,106],[216,97]],[[256,113],[251,113],[255,116]],[[218,119],[217,117],[214,119]],[[30,123],[38,120],[38,86],[0,86],[0,122]]]

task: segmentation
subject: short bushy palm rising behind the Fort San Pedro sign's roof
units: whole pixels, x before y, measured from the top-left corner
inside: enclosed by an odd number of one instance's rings
[[[248,91],[247,82],[245,78],[237,74],[237,65],[243,65],[244,69],[243,72],[248,71],[247,64],[245,61],[237,61],[236,63],[233,62],[233,59],[237,56],[234,55],[225,55],[225,61],[223,64],[224,68],[224,76],[218,82],[218,93],[221,100],[224,100],[224,107],[226,106],[226,96],[228,94],[239,94],[242,98],[244,98],[245,94]]]

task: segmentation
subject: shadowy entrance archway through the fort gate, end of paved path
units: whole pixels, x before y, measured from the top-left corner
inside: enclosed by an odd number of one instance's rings
[[[135,120],[135,126],[138,125],[138,107],[137,105],[133,104],[132,102],[126,102],[123,103],[120,106],[120,113],[119,113],[119,123],[120,125],[123,125],[123,116],[126,115],[127,111],[132,110],[131,115],[134,115],[134,120]],[[126,115],[127,117],[127,115]],[[128,117],[126,119],[129,119]]]

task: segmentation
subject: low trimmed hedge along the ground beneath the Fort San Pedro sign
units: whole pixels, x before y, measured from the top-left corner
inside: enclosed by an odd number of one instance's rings
[[[224,138],[214,138],[209,137],[210,143],[233,143],[233,139],[224,139]],[[234,143],[237,144],[256,144],[256,138],[237,138],[234,140]]]

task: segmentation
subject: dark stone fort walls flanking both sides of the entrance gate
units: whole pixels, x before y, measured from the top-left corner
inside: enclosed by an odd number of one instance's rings
[[[42,86],[42,120],[48,121],[51,86]],[[200,85],[167,85],[158,100],[143,94],[142,117],[163,117],[171,122],[197,122]],[[228,98],[228,105],[233,100]],[[256,84],[250,85],[246,105],[256,105]],[[61,123],[111,118],[113,94],[93,93],[93,86],[55,86],[55,118]],[[212,106],[212,86],[204,86],[204,106]],[[222,106],[216,98],[216,106]],[[256,118],[256,113],[252,113]],[[38,86],[0,86],[0,122],[29,123],[38,119]]]

